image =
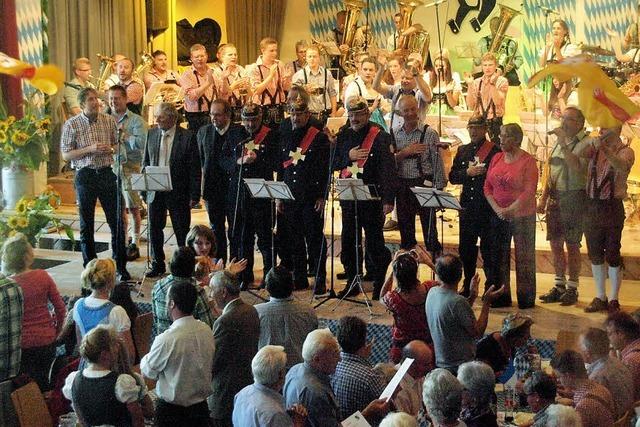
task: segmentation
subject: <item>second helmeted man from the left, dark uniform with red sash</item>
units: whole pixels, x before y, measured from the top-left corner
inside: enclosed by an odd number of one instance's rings
[[[313,259],[310,264],[318,270],[314,291],[323,294],[327,259],[323,211],[329,174],[329,141],[322,131],[310,124],[309,108],[302,98],[289,103],[289,113],[292,130],[280,135],[278,179],[289,186],[295,200],[278,201],[276,205],[282,215],[282,236],[285,237],[285,241],[280,242],[280,250],[283,264],[293,270],[296,289],[309,286],[308,253]]]

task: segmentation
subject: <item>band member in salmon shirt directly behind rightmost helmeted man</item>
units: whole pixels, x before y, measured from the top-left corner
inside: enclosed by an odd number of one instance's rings
[[[482,76],[473,81],[467,94],[467,106],[476,115],[487,119],[489,138],[494,143],[500,140],[500,126],[504,116],[509,82],[496,73],[496,56],[487,52],[482,56]]]

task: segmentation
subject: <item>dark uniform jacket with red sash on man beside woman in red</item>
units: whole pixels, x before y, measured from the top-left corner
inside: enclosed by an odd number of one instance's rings
[[[469,143],[458,147],[458,152],[451,166],[451,172],[449,172],[449,181],[452,184],[462,184],[460,204],[465,209],[491,210],[483,191],[486,174],[469,176],[467,175],[467,168],[470,163],[474,162],[476,157],[478,157],[480,163],[484,163],[485,167],[489,168],[491,159],[499,152],[500,148],[491,141]]]

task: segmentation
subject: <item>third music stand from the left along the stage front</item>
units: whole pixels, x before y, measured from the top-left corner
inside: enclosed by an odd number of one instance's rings
[[[369,185],[366,185],[362,182],[361,179],[338,179],[336,181],[336,187],[338,190],[338,200],[340,201],[352,201],[354,202],[354,219],[355,219],[355,235],[356,235],[356,275],[349,284],[347,291],[344,293],[344,296],[340,298],[340,301],[336,303],[331,311],[336,311],[340,303],[342,301],[347,300],[349,302],[353,302],[356,304],[363,304],[367,306],[369,310],[369,315],[373,316],[373,312],[371,311],[371,302],[367,297],[367,293],[362,288],[362,277],[360,277],[360,254],[358,251],[358,247],[360,244],[360,230],[358,228],[358,201],[371,201],[371,200],[379,200],[380,198],[376,195],[371,194],[371,189]],[[374,190],[375,192],[375,190]],[[344,249],[343,249],[344,250]],[[364,295],[364,301],[347,298],[349,293],[355,288],[358,287],[359,291]]]

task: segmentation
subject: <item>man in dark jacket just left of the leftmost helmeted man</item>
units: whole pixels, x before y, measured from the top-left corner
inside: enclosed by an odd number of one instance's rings
[[[222,147],[228,139],[240,141],[244,135],[242,126],[231,122],[231,105],[216,99],[211,104],[211,124],[198,130],[197,141],[202,164],[202,198],[209,224],[216,236],[216,258],[227,261],[227,235],[225,230],[225,204],[229,188],[229,174],[222,169]]]

